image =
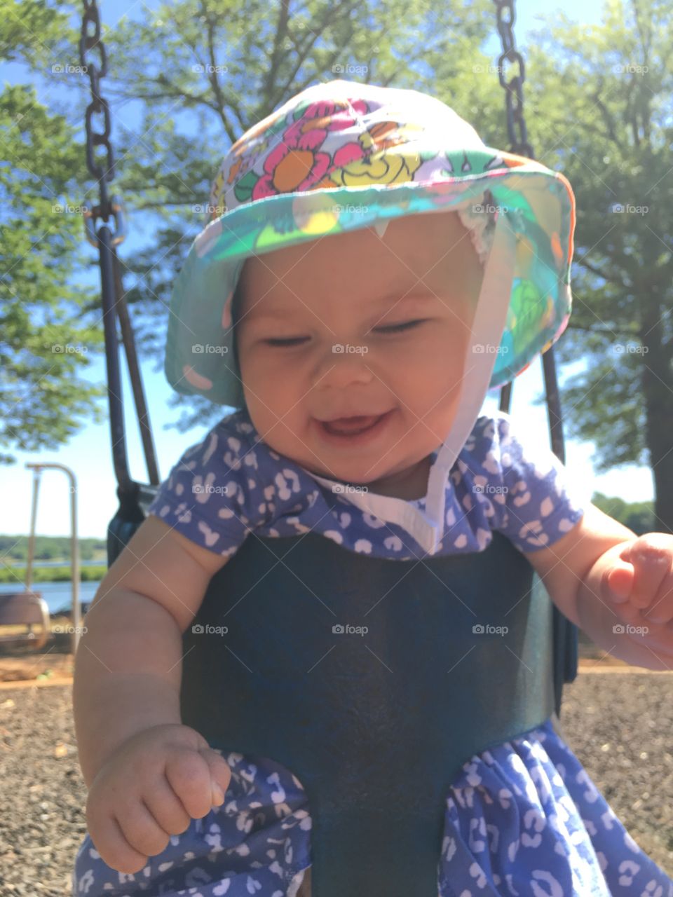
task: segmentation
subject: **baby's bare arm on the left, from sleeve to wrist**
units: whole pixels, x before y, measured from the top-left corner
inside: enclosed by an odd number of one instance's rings
[[[180,723],[182,632],[224,563],[150,515],[101,581],[74,664],[74,726],[87,786],[130,736]]]

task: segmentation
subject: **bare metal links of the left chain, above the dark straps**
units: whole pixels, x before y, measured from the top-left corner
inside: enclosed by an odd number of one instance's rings
[[[110,118],[108,101],[101,96],[100,79],[108,74],[108,57],[105,52],[105,45],[101,40],[101,18],[99,16],[96,0],[83,0],[84,13],[82,19],[82,32],[80,36],[80,63],[83,71],[89,75],[91,84],[92,101],[86,108],[85,129],[86,129],[86,164],[91,171],[92,176],[98,181],[101,191],[101,202],[94,205],[92,210],[84,213],[84,230],[86,239],[92,243],[92,246],[98,246],[98,237],[95,234],[95,223],[97,219],[108,222],[110,215],[115,220],[115,233],[113,235],[112,244],[117,245],[126,236],[126,222],[124,205],[118,196],[110,197],[108,195],[107,181],[111,181],[115,177],[115,159],[112,151],[112,145],[109,142],[110,135]],[[89,25],[93,26],[93,33],[89,33]],[[87,58],[87,52],[90,50],[98,51],[101,65]],[[103,117],[103,130],[96,131],[92,126],[92,117],[94,115]],[[106,150],[106,156],[101,157],[101,163],[95,158],[95,147],[103,146]]]

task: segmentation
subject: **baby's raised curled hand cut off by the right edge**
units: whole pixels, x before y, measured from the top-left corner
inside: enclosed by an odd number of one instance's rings
[[[626,542],[618,560],[604,573],[607,597],[616,613],[643,614],[650,623],[673,619],[673,536],[646,533]]]

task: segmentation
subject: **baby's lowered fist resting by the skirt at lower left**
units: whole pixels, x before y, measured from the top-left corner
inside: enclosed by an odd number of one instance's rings
[[[127,739],[92,781],[86,823],[109,867],[139,872],[170,835],[220,805],[232,772],[188,726],[153,726]]]

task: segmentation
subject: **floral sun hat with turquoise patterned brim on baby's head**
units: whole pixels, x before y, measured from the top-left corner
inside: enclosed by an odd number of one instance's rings
[[[486,146],[453,109],[419,91],[335,80],[297,94],[232,145],[214,179],[207,223],[170,299],[170,385],[244,406],[231,311],[247,257],[380,229],[398,215],[451,210],[482,262],[492,255],[497,222],[513,238],[509,304],[489,350],[487,388],[500,386],[554,344],[570,318],[568,180]]]

